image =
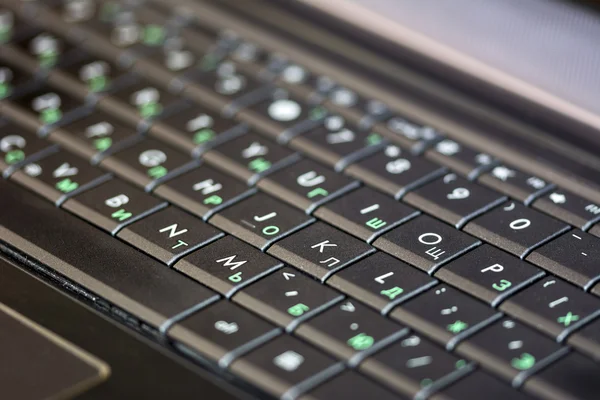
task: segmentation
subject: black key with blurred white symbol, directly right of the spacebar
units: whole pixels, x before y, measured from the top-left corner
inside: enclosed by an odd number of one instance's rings
[[[223,300],[192,314],[167,332],[175,346],[191,349],[227,367],[235,350],[258,345],[278,333],[275,326],[229,301]]]

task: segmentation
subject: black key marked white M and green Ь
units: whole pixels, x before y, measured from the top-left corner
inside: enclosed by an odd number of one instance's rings
[[[241,287],[282,265],[241,240],[225,236],[179,260],[174,268],[231,297]]]

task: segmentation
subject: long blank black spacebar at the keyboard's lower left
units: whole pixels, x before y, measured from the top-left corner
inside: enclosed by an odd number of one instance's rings
[[[0,245],[36,260],[154,327],[216,296],[118,239],[2,180]]]

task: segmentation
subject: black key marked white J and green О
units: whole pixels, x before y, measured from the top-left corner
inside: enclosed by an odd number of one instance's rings
[[[214,215],[210,223],[264,250],[314,220],[285,203],[257,193]]]

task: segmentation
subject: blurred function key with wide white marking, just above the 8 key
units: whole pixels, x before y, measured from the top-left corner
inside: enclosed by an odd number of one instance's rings
[[[431,143],[440,140],[440,133],[434,128],[392,115],[387,121],[375,125],[386,138],[420,154]]]

